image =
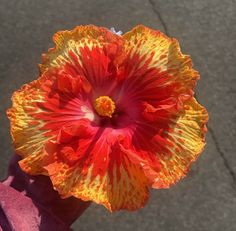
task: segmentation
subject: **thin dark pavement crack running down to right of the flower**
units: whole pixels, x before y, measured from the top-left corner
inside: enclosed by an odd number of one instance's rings
[[[233,186],[236,189],[236,175],[235,175],[233,169],[230,167],[230,164],[229,164],[228,159],[226,158],[224,152],[221,150],[220,144],[219,144],[218,140],[216,139],[216,136],[215,136],[215,133],[214,133],[213,129],[209,125],[207,127],[208,127],[208,131],[209,131],[209,133],[210,133],[210,135],[211,135],[211,137],[212,137],[212,139],[214,141],[216,150],[220,154],[220,156],[221,156],[221,158],[223,160],[223,163],[225,165],[225,168],[228,170],[228,173],[232,177],[233,183],[234,183]]]

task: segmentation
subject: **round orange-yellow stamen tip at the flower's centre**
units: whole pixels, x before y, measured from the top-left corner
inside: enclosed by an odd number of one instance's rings
[[[94,107],[95,107],[96,112],[100,116],[112,117],[112,114],[115,111],[116,105],[109,96],[99,96],[94,101]]]

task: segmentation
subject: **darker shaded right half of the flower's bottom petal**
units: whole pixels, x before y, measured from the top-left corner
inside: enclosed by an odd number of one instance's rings
[[[114,145],[110,154],[109,169],[110,210],[137,210],[144,207],[149,197],[148,179],[140,164],[121,148]]]

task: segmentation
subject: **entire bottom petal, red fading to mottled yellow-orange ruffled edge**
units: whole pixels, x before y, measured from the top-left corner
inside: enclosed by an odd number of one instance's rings
[[[63,148],[54,145],[51,149],[54,153],[45,164],[54,188],[64,198],[92,200],[110,211],[143,207],[149,190],[142,167],[134,163],[119,144],[109,146],[105,139],[81,141],[77,150],[80,159],[74,164],[63,160]]]

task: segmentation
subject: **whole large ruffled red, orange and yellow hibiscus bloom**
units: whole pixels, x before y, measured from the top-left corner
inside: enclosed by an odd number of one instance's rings
[[[205,145],[190,57],[144,26],[123,36],[78,26],[53,40],[40,77],[8,110],[21,168],[48,175],[63,198],[143,207],[149,189],[185,176]]]

